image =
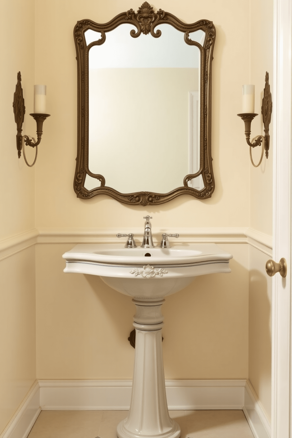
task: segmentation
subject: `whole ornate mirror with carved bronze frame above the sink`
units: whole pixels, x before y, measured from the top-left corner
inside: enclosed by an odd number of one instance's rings
[[[209,198],[213,23],[186,24],[145,2],[106,24],[78,21],[74,39],[77,197]]]

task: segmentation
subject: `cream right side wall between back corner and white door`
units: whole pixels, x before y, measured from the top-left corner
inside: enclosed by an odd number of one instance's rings
[[[264,134],[261,105],[266,71],[269,73],[273,98],[272,0],[250,2],[250,29],[250,83],[255,84],[255,113],[259,114],[252,124],[254,137]],[[247,80],[246,83],[248,82]],[[250,227],[268,235],[272,234],[274,113],[275,108],[270,124],[268,159],[264,155],[257,168],[250,163]],[[257,163],[260,159],[260,148],[254,148],[253,157]],[[271,420],[271,278],[265,272],[265,264],[269,258],[271,254],[267,255],[250,247],[249,378],[267,418]]]

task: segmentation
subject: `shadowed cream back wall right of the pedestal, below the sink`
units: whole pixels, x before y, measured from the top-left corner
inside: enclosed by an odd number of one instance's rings
[[[235,259],[230,268],[166,298],[165,378],[248,377],[248,270]]]

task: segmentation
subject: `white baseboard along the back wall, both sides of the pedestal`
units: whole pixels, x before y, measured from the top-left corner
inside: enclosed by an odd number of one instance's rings
[[[243,409],[245,380],[166,380],[170,410]],[[132,381],[40,380],[43,410],[127,410]]]

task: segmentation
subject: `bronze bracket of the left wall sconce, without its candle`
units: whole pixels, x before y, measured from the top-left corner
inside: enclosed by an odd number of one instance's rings
[[[50,114],[42,114],[42,113],[31,113],[30,114],[30,116],[32,116],[36,121],[37,141],[35,141],[35,139],[31,140],[28,137],[28,135],[21,134],[22,124],[23,124],[24,118],[25,118],[25,100],[23,98],[23,92],[22,92],[22,87],[21,87],[21,73],[20,73],[20,71],[17,74],[17,84],[15,87],[14,100],[13,100],[13,111],[14,111],[15,123],[17,125],[16,146],[17,146],[17,150],[18,150],[18,158],[21,157],[21,150],[22,150],[23,141],[25,142],[26,146],[32,146],[32,148],[34,148],[36,146],[35,160],[32,164],[28,164],[26,157],[25,157],[25,150],[23,149],[23,156],[24,156],[25,162],[29,167],[32,167],[35,164],[36,157],[38,154],[37,147],[40,144],[41,139],[42,139],[42,124],[46,120],[46,118],[50,116]]]

